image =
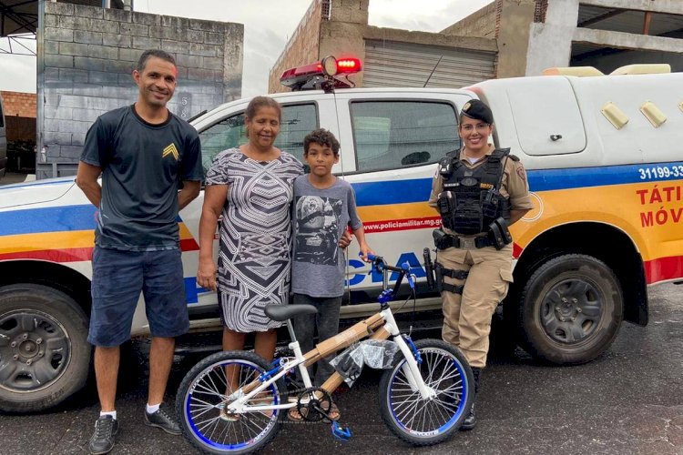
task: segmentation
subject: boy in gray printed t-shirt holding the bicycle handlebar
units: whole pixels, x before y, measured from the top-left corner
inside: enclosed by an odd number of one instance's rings
[[[332,175],[339,161],[339,142],[325,129],[316,129],[303,139],[303,158],[311,173],[294,180],[294,252],[291,265],[291,290],[294,303],[308,303],[318,314],[292,319],[301,350],[313,349],[317,327],[320,341],[339,331],[339,308],[344,293],[346,261],[338,247],[347,226],[360,244],[363,260],[372,250],[365,243],[361,219],[356,211],[356,197],[351,185]],[[313,382],[320,386],[334,371],[331,358],[318,363]],[[311,369],[309,369],[311,372]],[[296,408],[291,419],[301,419]],[[339,416],[334,407],[332,417]]]

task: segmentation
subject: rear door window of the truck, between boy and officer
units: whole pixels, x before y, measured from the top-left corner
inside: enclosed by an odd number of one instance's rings
[[[454,106],[426,101],[352,103],[356,168],[367,172],[435,163],[460,148]]]

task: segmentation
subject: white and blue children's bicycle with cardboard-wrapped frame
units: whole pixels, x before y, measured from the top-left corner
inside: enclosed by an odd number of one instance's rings
[[[213,354],[189,370],[178,389],[176,410],[182,432],[195,448],[235,454],[260,450],[275,438],[287,410],[294,407],[304,420],[331,420],[332,435],[350,439],[351,431],[329,415],[331,393],[342,384],[342,375],[335,372],[316,388],[306,367],[362,339],[392,339],[400,349],[379,384],[382,420],[396,436],[415,446],[427,446],[448,440],[460,429],[474,399],[472,370],[454,346],[439,339],[413,343],[400,333],[389,303],[403,278],[407,278],[414,298],[410,265],[404,262],[400,268],[392,267],[382,257],[369,256],[372,267],[383,277],[378,313],[304,355],[290,319],[315,313],[316,308],[270,305],[265,310],[270,319],[287,321],[293,357],[269,364],[252,352],[227,351]],[[389,288],[388,274],[394,272],[398,278]],[[304,389],[288,392],[284,379],[294,369],[299,370]],[[295,401],[288,399],[291,395],[296,395]]]

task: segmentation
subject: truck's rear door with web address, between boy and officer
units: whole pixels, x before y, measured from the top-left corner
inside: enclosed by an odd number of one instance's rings
[[[337,93],[340,129],[353,146],[342,145],[344,178],[355,190],[368,243],[392,264],[408,260],[418,278],[423,248],[440,224],[427,204],[433,173],[447,152],[460,148],[457,114],[468,99],[454,92]],[[347,287],[376,291],[381,279],[368,270],[353,242]]]

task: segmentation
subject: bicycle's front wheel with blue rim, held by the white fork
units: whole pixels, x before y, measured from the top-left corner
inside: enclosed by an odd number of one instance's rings
[[[422,339],[415,347],[422,358],[420,374],[435,397],[423,399],[411,385],[402,357],[380,381],[380,413],[396,436],[415,446],[429,446],[460,429],[474,399],[474,379],[463,353],[454,346]]]

